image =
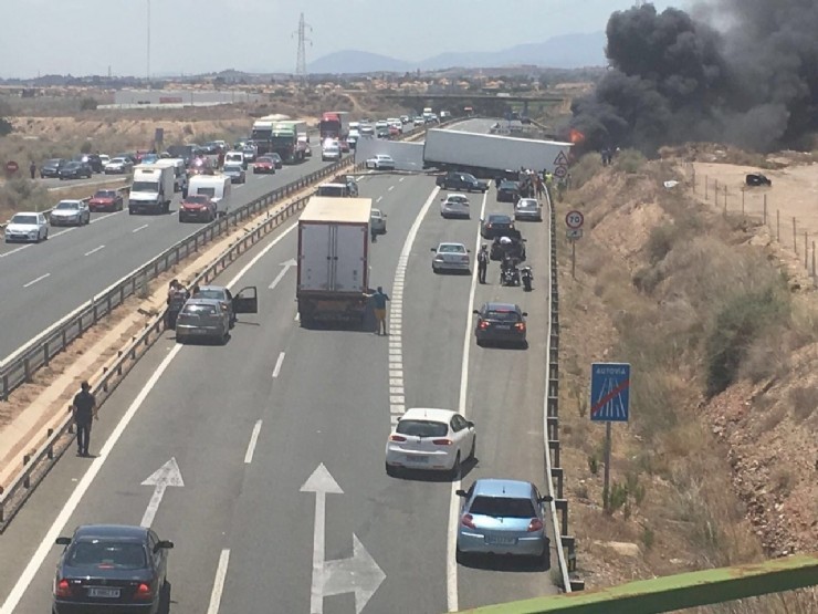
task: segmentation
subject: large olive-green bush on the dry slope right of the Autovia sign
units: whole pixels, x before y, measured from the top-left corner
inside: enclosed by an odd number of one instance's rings
[[[735,382],[755,337],[788,313],[788,302],[773,287],[737,294],[724,304],[705,340],[709,396],[717,395]]]

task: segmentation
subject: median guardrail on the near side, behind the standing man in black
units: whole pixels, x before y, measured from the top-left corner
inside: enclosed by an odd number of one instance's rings
[[[328,168],[333,168],[333,171],[335,171],[348,166],[348,162],[344,162],[343,164],[336,163],[322,169],[322,171],[325,171]],[[357,169],[356,167],[353,168]],[[272,194],[268,195],[268,197],[271,196]],[[262,201],[264,198],[266,197],[262,197],[256,200]],[[298,198],[277,214],[269,215],[264,220],[256,225],[255,228],[238,239],[235,243],[222,252],[221,256],[219,256],[191,281],[191,284],[204,284],[216,278],[237,258],[263,239],[270,231],[274,230],[301,211],[306,206],[310,198],[311,195]],[[274,199],[270,199],[268,201],[268,206],[275,204],[275,201],[276,200]],[[105,403],[105,399],[113,394],[136,362],[161,336],[165,331],[166,311],[167,308],[162,309],[162,311],[158,313],[151,322],[145,325],[145,329],[138,335],[135,335],[132,339],[132,342],[124,350],[120,350],[117,353],[117,357],[114,363],[108,367],[105,367],[103,376],[92,386],[92,393],[96,396],[98,405],[102,406],[103,403]],[[73,436],[74,420],[73,417],[66,413],[66,416],[60,423],[60,426],[49,429],[46,440],[40,446],[40,448],[33,454],[23,456],[23,467],[21,471],[14,477],[9,487],[4,491],[0,492],[0,533],[6,530],[25,500],[48,475],[54,462],[56,462],[65,450],[71,447]]]

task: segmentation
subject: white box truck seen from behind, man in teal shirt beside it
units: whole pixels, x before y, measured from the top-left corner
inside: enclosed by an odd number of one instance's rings
[[[369,198],[314,196],[298,219],[296,299],[303,326],[363,324],[369,291]]]

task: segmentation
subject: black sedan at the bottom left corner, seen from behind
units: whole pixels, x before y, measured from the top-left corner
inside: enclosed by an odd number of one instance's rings
[[[151,529],[86,524],[71,538],[56,564],[53,614],[156,614],[168,599],[167,551],[174,542]]]

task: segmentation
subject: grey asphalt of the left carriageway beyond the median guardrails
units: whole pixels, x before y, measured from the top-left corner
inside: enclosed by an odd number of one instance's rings
[[[315,153],[319,154],[316,147]],[[233,186],[233,207],[294,181],[331,163],[313,155],[304,164],[284,166],[275,175],[253,175]],[[6,357],[90,301],[114,282],[141,267],[174,243],[201,228],[180,223],[177,194],[169,215],[92,214],[91,225],[50,228],[49,240],[0,242],[0,356]],[[38,308],[31,309],[32,305]],[[24,314],[24,316],[23,316]]]

